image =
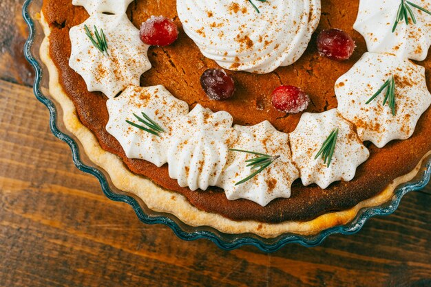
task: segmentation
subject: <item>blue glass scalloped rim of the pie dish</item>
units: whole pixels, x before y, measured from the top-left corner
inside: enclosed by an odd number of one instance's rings
[[[52,130],[52,133],[62,141],[65,141],[70,146],[70,149],[72,150],[73,161],[79,170],[96,176],[107,198],[114,201],[129,204],[136,212],[138,218],[147,225],[167,225],[174,231],[176,236],[178,236],[178,238],[181,238],[182,240],[191,241],[198,239],[207,239],[211,240],[217,246],[224,250],[233,250],[238,249],[240,246],[251,245],[256,246],[261,251],[273,252],[281,249],[283,246],[289,243],[297,243],[301,244],[302,246],[311,247],[321,244],[328,236],[332,234],[341,233],[344,235],[349,235],[357,233],[359,230],[361,230],[362,227],[364,227],[365,222],[373,216],[384,216],[392,214],[393,212],[395,212],[395,210],[397,210],[401,198],[403,198],[405,194],[407,194],[408,192],[423,189],[423,187],[425,187],[425,185],[427,185],[430,181],[431,157],[430,159],[428,159],[428,161],[423,163],[420,174],[414,179],[414,181],[405,183],[397,187],[394,192],[394,196],[392,196],[392,200],[390,200],[390,202],[379,207],[368,207],[361,209],[361,211],[359,211],[359,213],[357,214],[356,218],[352,222],[349,222],[347,225],[341,225],[326,229],[315,236],[300,236],[297,234],[287,233],[277,238],[266,239],[260,238],[253,234],[232,235],[220,233],[220,231],[212,229],[211,227],[189,227],[184,223],[180,222],[178,218],[172,216],[171,214],[148,214],[149,212],[146,212],[144,210],[145,208],[138,202],[136,198],[114,192],[114,189],[109,184],[109,179],[107,179],[105,173],[98,168],[94,168],[90,165],[85,164],[81,157],[80,149],[76,141],[70,135],[63,133],[63,131],[60,130],[57,124],[57,118],[59,117],[59,115],[56,106],[54,102],[52,102],[52,100],[50,100],[50,98],[47,97],[41,91],[43,66],[41,65],[41,63],[38,62],[38,60],[36,60],[34,54],[32,53],[32,47],[35,43],[36,37],[36,28],[34,20],[32,19],[32,16],[30,16],[29,7],[31,3],[35,1],[38,0],[25,0],[23,4],[23,18],[28,24],[30,30],[30,35],[24,47],[24,55],[28,62],[30,62],[36,73],[33,87],[34,95],[36,95],[36,98],[40,102],[45,104],[45,106],[50,111],[50,128]]]

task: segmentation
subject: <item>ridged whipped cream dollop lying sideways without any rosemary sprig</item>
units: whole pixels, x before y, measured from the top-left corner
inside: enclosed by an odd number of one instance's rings
[[[191,190],[215,186],[226,165],[228,148],[237,139],[232,116],[198,104],[189,115],[172,120],[169,176]]]

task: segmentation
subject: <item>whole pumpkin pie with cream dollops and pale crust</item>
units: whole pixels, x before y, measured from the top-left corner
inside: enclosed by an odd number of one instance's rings
[[[429,157],[431,1],[412,1],[417,23],[399,0],[131,2],[43,0],[41,58],[67,129],[149,209],[224,233],[316,234],[386,203]],[[150,47],[139,28],[159,15],[178,39]],[[348,60],[319,54],[330,28],[355,41]],[[205,93],[208,69],[233,78],[231,99]],[[305,111],[273,106],[287,84]]]

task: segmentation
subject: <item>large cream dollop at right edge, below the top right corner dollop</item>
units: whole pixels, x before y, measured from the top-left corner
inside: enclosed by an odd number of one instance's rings
[[[388,104],[383,105],[389,87],[369,102],[392,76],[395,115]],[[372,141],[379,148],[394,139],[411,137],[419,117],[431,104],[425,68],[390,54],[364,54],[337,80],[335,94],[339,113],[357,126],[363,141]]]

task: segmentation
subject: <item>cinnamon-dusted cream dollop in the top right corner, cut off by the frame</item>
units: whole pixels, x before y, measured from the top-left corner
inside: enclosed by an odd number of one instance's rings
[[[431,0],[410,0],[426,10],[431,10]],[[406,25],[399,21],[392,32],[397,19],[401,0],[361,0],[359,13],[353,27],[364,36],[368,51],[391,53],[400,58],[425,60],[431,45],[431,15],[414,8],[409,3],[417,23]]]

